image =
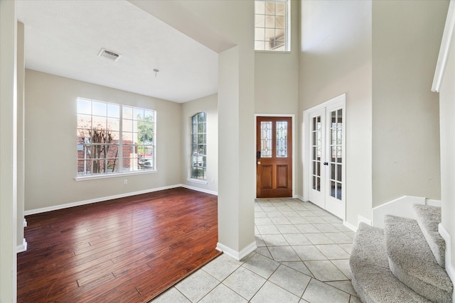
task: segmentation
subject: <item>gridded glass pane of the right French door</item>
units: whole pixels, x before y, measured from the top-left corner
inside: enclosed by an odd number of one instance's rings
[[[337,109],[329,113],[330,131],[330,155],[329,155],[329,176],[330,176],[330,195],[341,200],[342,171],[343,171],[343,109]]]

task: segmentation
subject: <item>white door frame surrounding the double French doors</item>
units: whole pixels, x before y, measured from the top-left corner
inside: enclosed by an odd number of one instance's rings
[[[302,140],[302,153],[303,153],[303,158],[304,158],[304,167],[303,167],[303,199],[304,201],[309,201],[309,189],[310,189],[310,155],[311,155],[311,119],[309,119],[309,116],[312,112],[318,111],[321,109],[325,109],[328,106],[331,106],[333,104],[336,104],[340,102],[343,106],[343,169],[341,172],[341,177],[343,180],[343,187],[342,187],[342,193],[341,193],[341,199],[343,201],[343,222],[346,220],[346,93],[341,94],[338,97],[335,97],[333,99],[330,99],[326,102],[323,102],[317,106],[312,107],[311,109],[306,109],[304,111],[304,123],[302,124],[302,136],[304,137]]]

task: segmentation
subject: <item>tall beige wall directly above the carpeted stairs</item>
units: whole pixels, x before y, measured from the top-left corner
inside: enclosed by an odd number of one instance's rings
[[[439,104],[431,92],[448,1],[373,1],[373,207],[440,199]]]

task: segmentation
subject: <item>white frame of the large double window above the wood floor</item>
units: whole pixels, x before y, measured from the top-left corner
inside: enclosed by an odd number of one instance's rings
[[[112,102],[107,102],[107,101],[100,101],[100,100],[95,100],[95,99],[77,97],[77,102],[79,100],[86,100],[86,101],[90,101],[91,103],[92,102],[98,102],[98,103],[107,104],[107,105],[110,104],[110,105],[114,105],[114,106],[119,106],[119,118],[118,118],[119,119],[119,130],[118,130],[119,138],[118,138],[118,143],[112,143],[112,145],[118,145],[118,148],[117,148],[118,149],[117,161],[119,163],[119,165],[118,165],[119,168],[118,168],[118,172],[111,172],[111,173],[104,172],[104,173],[97,173],[97,174],[90,174],[90,175],[79,175],[78,166],[77,165],[78,165],[78,160],[80,160],[80,158],[78,158],[78,156],[76,155],[76,177],[75,177],[76,181],[104,179],[104,178],[119,177],[119,176],[124,176],[124,175],[141,175],[141,174],[149,174],[149,173],[156,173],[157,172],[157,169],[156,169],[156,111],[155,110],[153,110],[153,109],[145,109],[145,108],[141,108],[141,107],[137,107],[137,106],[129,106],[129,105],[125,105],[125,104],[117,104],[117,103],[112,103]],[[124,142],[123,142],[123,119],[124,119],[124,117],[123,117],[123,109],[124,109],[124,107],[132,108],[133,110],[134,109],[139,109],[139,110],[152,111],[153,112],[153,136],[154,136],[154,138],[153,138],[153,141],[152,141],[151,144],[146,144],[146,145],[149,145],[151,147],[151,149],[153,150],[152,151],[152,153],[153,153],[153,157],[152,157],[153,164],[151,165],[152,166],[151,169],[124,171],[124,167],[123,167],[123,158],[124,158],[123,147],[124,147],[124,145],[125,146],[132,145],[133,148],[134,148],[134,144],[126,144],[126,143],[124,144]],[[76,116],[78,116],[79,114],[80,113],[77,110]],[[91,115],[94,116],[93,113]],[[125,119],[127,119],[127,118],[125,118]],[[137,119],[128,119],[128,120],[137,121]],[[76,128],[77,128],[77,151],[78,151],[78,150],[81,150],[81,148],[83,148],[83,146],[79,143],[80,134],[79,134],[78,130],[80,128],[79,128],[78,125],[76,125]],[[136,158],[132,158],[132,160],[134,161],[134,160],[137,160],[137,159]],[[92,161],[92,160],[90,160],[90,161]],[[138,165],[139,165],[139,162],[138,162]]]

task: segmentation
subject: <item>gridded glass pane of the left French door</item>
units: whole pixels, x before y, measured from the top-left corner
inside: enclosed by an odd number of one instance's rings
[[[311,188],[321,192],[321,116],[314,116],[311,121]]]

